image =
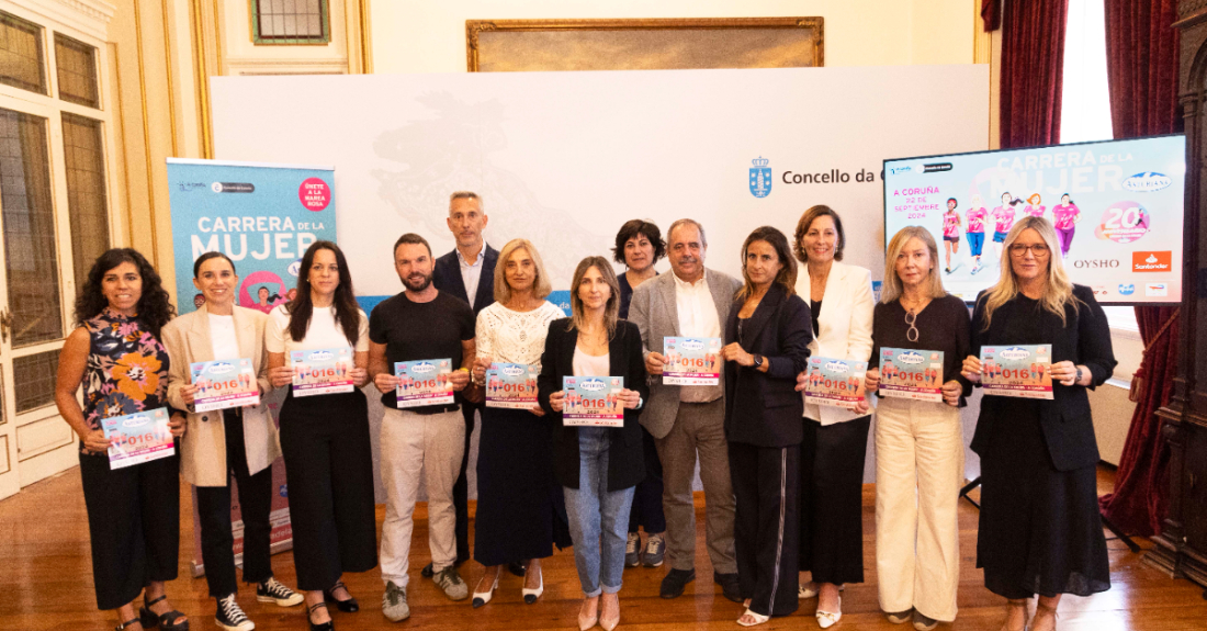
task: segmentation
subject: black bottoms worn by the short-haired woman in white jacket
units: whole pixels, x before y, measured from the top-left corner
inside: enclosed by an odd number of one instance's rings
[[[863,461],[871,416],[803,422],[800,571],[811,571],[816,583],[863,583]]]

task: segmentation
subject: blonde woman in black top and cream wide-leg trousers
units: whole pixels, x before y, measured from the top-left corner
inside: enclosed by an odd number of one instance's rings
[[[885,255],[885,286],[871,327],[868,391],[876,391],[881,349],[919,351],[911,370],[927,385],[941,376],[941,401],[884,397],[876,408],[876,573],[880,608],[891,623],[912,613],[914,627],[956,619],[960,584],[957,503],[964,440],[960,408],[972,384],[960,376],[970,352],[968,308],[935,274],[929,230],[902,228]],[[941,364],[932,357],[943,354]],[[893,364],[890,364],[893,366]],[[887,372],[887,369],[886,369]]]

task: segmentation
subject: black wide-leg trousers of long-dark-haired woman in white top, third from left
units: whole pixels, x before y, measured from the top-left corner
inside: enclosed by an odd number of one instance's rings
[[[377,567],[373,452],[360,390],[281,405],[281,452],[298,589],[330,589],[344,572]]]

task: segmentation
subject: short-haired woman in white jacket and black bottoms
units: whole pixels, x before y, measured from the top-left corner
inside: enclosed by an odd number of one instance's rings
[[[804,263],[797,294],[812,314],[812,357],[865,362],[871,354],[871,273],[844,265],[842,221],[829,206],[814,206],[797,223],[795,255]],[[803,390],[805,374],[798,378]],[[817,624],[842,617],[839,590],[863,583],[863,462],[867,456],[868,403],[856,410],[805,404],[800,444],[801,598],[818,597]]]

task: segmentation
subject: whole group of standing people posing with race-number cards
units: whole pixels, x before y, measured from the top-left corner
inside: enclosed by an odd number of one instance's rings
[[[1115,360],[1103,311],[1089,288],[1069,282],[1045,218],[1013,223],[1001,240],[1002,276],[970,317],[944,291],[937,244],[920,227],[892,238],[874,302],[869,270],[841,263],[842,222],[827,206],[805,211],[791,241],[774,227],[753,230],[742,244],[741,279],[705,265],[705,227],[694,220],[674,222],[665,240],[652,222],[626,222],[613,251],[625,271],[617,275],[605,257],[582,259],[570,317],[546,299],[552,286],[537,247],[514,239],[496,251],[483,239],[486,223],[479,195],[454,193],[448,226],[456,249],[436,258],[422,236],[398,238],[392,257],[403,291],[368,316],[330,241],[305,251],[295,298],[267,315],[234,306],[235,265],[218,252],[194,264],[205,303],[175,319],[158,274],[136,251],[111,250],[95,262],[56,393],[81,438],[98,606],[116,609],[119,631],[188,627],[164,592],[176,577],[180,475],[197,487],[205,574],[223,629],[255,626],[237,601],[232,477],[243,508],[244,582],[256,584],[258,601],[304,602],[311,629],[334,627],[327,603],[357,610],[342,576],[379,563],[383,613],[409,617],[421,480],[432,559],[421,573],[450,600],[468,598],[459,566],[470,557],[466,454],[479,416],[473,559],[483,571],[474,608],[494,598],[505,569],[523,576],[523,600],[537,602],[541,561],[568,545],[583,631],[619,624],[626,566],[665,561],[660,596],[681,596],[696,578],[699,463],[712,578],[745,607],[737,623],[766,623],[816,598],[826,629],[841,619],[844,585],[864,579],[862,487],[873,414],[880,607],[893,623],[934,629],[956,617],[958,410],[980,381],[980,347],[1001,344],[1051,344],[1054,381],[1051,401],[985,397],[973,438],[982,478],[978,567],[986,586],[1008,598],[1003,629],[1025,629],[1037,595],[1031,629],[1050,630],[1063,594],[1109,588],[1086,388],[1106,381]],[[657,274],[664,256],[670,273]],[[667,337],[722,339],[719,381],[664,384]],[[192,362],[250,357],[264,395],[291,385],[291,351],[332,347],[352,349],[348,376],[357,387],[298,398],[290,391],[279,431],[263,403],[193,411]],[[943,401],[879,397],[881,347],[941,351],[934,379]],[[868,397],[853,409],[806,404],[810,356],[868,361]],[[391,367],[432,358],[457,367],[448,376],[455,402],[400,408]],[[492,363],[537,367],[530,409],[483,405]],[[623,378],[616,393],[623,422],[564,423],[567,376]],[[371,381],[385,408],[378,472],[361,390]],[[161,407],[171,410],[179,457],[110,469],[100,420]],[[276,582],[269,562],[269,466],[279,455],[301,594]],[[386,496],[380,547],[375,474]]]

